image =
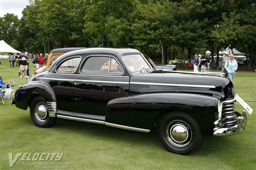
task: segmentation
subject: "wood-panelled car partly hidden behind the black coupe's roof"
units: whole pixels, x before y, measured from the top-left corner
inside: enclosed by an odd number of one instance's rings
[[[47,62],[46,62],[46,66],[43,66],[41,68],[38,68],[35,71],[35,75],[45,72],[50,66],[51,64],[62,54],[65,54],[67,52],[70,51],[74,51],[77,49],[83,49],[84,47],[71,47],[71,48],[56,48],[56,49],[52,49],[52,51],[50,52]]]

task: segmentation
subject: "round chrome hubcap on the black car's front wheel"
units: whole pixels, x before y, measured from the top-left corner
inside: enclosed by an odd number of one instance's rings
[[[172,145],[184,147],[191,143],[192,130],[186,122],[174,120],[166,126],[165,136]]]

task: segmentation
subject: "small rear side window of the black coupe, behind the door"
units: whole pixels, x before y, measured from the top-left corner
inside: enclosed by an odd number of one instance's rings
[[[75,73],[81,58],[71,58],[61,63],[56,69],[57,73]]]

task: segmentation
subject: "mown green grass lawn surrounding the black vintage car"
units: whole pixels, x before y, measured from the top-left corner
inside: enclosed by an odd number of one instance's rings
[[[0,76],[15,79],[18,68],[10,68],[1,59]],[[32,63],[32,62],[31,62]],[[33,66],[30,66],[32,75]],[[150,134],[114,129],[104,125],[58,119],[52,128],[37,128],[29,110],[0,103],[0,169],[9,168],[8,153],[64,153],[69,169],[255,169],[256,168],[256,73],[237,72],[234,89],[253,109],[241,134],[230,137],[204,136],[203,145],[192,155],[178,155],[165,150],[156,130]],[[242,107],[237,103],[241,112]],[[12,169],[32,169],[19,158]],[[37,161],[33,161],[37,162]],[[45,161],[43,161],[45,162]]]

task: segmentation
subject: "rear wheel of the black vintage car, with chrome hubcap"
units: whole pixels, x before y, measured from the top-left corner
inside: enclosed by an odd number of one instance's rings
[[[56,122],[55,117],[49,116],[48,106],[41,96],[33,98],[30,104],[30,117],[33,123],[41,128],[49,128]]]

